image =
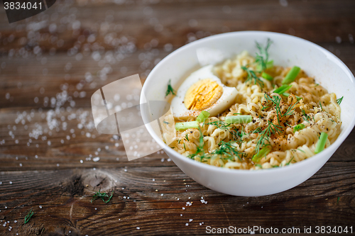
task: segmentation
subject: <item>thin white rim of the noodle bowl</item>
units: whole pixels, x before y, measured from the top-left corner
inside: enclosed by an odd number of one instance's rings
[[[209,40],[217,40],[219,38],[228,37],[229,35],[237,35],[238,36],[238,35],[247,35],[247,34],[256,34],[256,35],[262,35],[262,36],[275,35],[275,36],[280,36],[280,37],[284,37],[284,38],[290,38],[293,40],[300,40],[302,43],[307,43],[307,44],[311,45],[312,47],[317,48],[317,50],[320,50],[321,52],[323,52],[324,55],[327,55],[329,60],[332,60],[332,62],[337,63],[338,66],[342,68],[342,70],[348,75],[349,79],[351,79],[352,86],[355,90],[354,74],[352,74],[350,69],[346,66],[346,64],[344,64],[344,62],[342,62],[342,60],[340,60],[332,52],[329,52],[328,50],[324,49],[324,47],[321,47],[320,45],[312,43],[309,40],[305,40],[303,38],[299,38],[299,37],[284,34],[284,33],[275,33],[275,32],[258,31],[258,30],[245,30],[245,31],[235,31],[235,32],[229,32],[229,33],[220,33],[217,35],[208,36],[208,37],[202,38],[200,40],[195,40],[194,42],[188,43],[187,45],[183,45],[182,47],[179,47],[177,50],[171,52],[169,55],[164,57],[163,60],[161,60],[158,64],[156,64],[155,67],[152,69],[152,71],[148,74],[148,77],[147,77],[146,81],[144,82],[143,88],[141,91],[140,103],[141,104],[146,103],[146,101],[145,101],[146,96],[144,96],[143,94],[144,94],[144,91],[146,90],[146,86],[147,86],[146,84],[148,84],[149,82],[151,82],[151,80],[153,80],[153,74],[155,74],[155,72],[158,71],[158,69],[160,69],[160,67],[162,67],[162,65],[164,64],[165,61],[170,60],[171,57],[175,57],[175,55],[178,54],[180,51],[187,50],[189,47],[194,47],[195,45],[197,45],[199,43],[206,42]],[[143,120],[144,120],[144,116],[146,116],[146,113],[142,113]],[[163,140],[161,140],[160,137],[158,137],[154,133],[153,128],[151,128],[151,125],[149,125],[149,123],[146,123],[146,128],[147,128],[148,132],[150,133],[150,135],[155,140],[155,142],[157,142],[158,145],[160,145],[160,147],[162,147],[165,152],[168,152],[168,154],[171,154],[174,157],[180,159],[182,162],[187,162],[188,164],[191,164],[192,166],[204,168],[204,169],[210,170],[212,172],[224,172],[224,173],[229,172],[229,173],[234,173],[234,174],[253,174],[253,175],[266,174],[266,173],[289,172],[289,171],[292,171],[295,169],[300,169],[310,162],[315,162],[317,160],[324,159],[324,156],[327,156],[326,153],[332,152],[333,150],[335,152],[340,147],[340,145],[342,145],[342,142],[344,142],[346,137],[348,137],[348,135],[351,133],[351,130],[353,130],[354,126],[355,126],[355,116],[351,119],[351,123],[349,124],[348,128],[346,128],[344,130],[344,133],[342,134],[342,136],[337,137],[337,140],[335,140],[335,142],[332,143],[332,145],[327,147],[327,149],[325,149],[324,151],[322,151],[318,154],[315,154],[314,156],[312,156],[310,158],[304,159],[301,162],[296,162],[294,164],[290,164],[290,165],[287,165],[284,167],[279,167],[279,168],[249,170],[249,169],[229,169],[229,168],[215,167],[210,164],[197,162],[195,160],[187,158],[187,157],[183,156],[182,154],[173,150],[168,145],[166,145],[165,142],[163,142]],[[333,154],[334,154],[334,152],[333,152]],[[330,157],[332,157],[332,155]],[[330,159],[330,157],[327,159],[327,161]]]

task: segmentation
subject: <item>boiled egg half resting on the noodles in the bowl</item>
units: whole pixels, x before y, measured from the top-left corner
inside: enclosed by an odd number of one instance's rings
[[[171,101],[175,118],[197,117],[201,111],[217,116],[234,103],[236,88],[222,84],[212,68],[213,65],[202,67],[182,82]]]

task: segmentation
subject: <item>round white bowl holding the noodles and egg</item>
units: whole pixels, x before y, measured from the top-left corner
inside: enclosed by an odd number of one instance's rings
[[[264,196],[291,189],[315,174],[332,157],[354,128],[355,79],[348,67],[324,48],[302,38],[281,33],[241,31],[214,35],[189,43],[172,52],[154,67],[143,85],[142,93],[148,101],[165,101],[169,79],[173,87],[178,89],[178,84],[186,74],[200,65],[197,50],[201,48],[222,52],[225,59],[243,50],[248,50],[251,55],[255,55],[256,40],[265,44],[267,38],[273,41],[269,51],[274,64],[285,67],[297,65],[308,75],[315,77],[316,81],[329,92],[337,94],[337,98],[344,96],[340,106],[342,131],[330,147],[309,159],[282,168],[249,171],[214,167],[184,157],[165,145],[153,132],[151,126],[146,125],[153,139],[182,172],[214,191],[235,196]],[[141,96],[141,103],[143,102]],[[148,116],[150,116],[148,112],[142,112],[143,119]]]

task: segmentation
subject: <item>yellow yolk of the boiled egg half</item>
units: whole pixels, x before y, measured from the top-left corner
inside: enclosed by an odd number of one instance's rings
[[[201,111],[212,106],[223,94],[223,88],[212,79],[201,79],[192,84],[185,94],[185,107]]]

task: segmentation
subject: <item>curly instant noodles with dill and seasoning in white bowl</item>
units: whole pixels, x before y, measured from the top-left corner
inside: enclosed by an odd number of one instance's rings
[[[268,57],[241,52],[214,66],[212,72],[221,82],[236,88],[232,105],[200,122],[199,128],[165,128],[169,146],[197,162],[230,169],[268,169],[300,162],[315,155],[322,133],[327,134],[324,148],[329,147],[342,125],[337,96],[302,69],[293,82],[285,84],[291,68],[266,66],[267,62]],[[265,79],[263,73],[270,77]],[[288,89],[277,93],[279,88]],[[237,116],[239,122],[227,122]],[[250,116],[251,122],[240,121]],[[173,114],[165,120],[172,123]],[[175,117],[175,123],[193,120],[196,116]]]

